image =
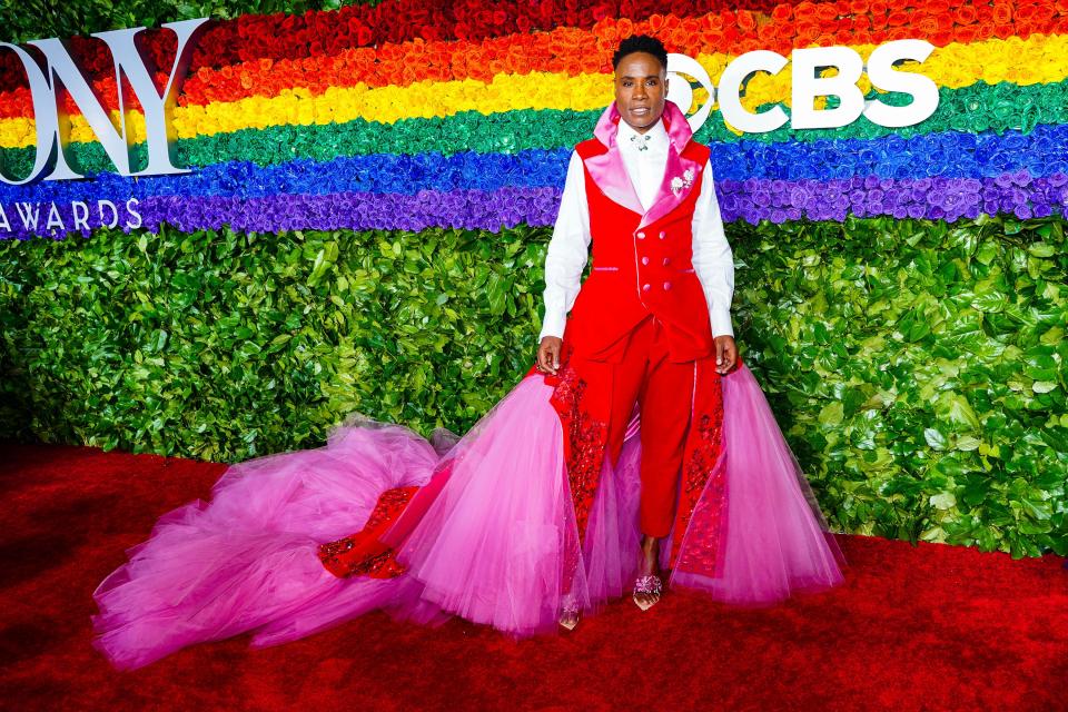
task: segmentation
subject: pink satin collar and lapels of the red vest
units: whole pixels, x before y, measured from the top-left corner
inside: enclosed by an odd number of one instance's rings
[[[696,184],[698,174],[703,167],[699,166],[696,161],[681,156],[690,139],[693,138],[693,131],[690,129],[690,123],[682,110],[674,102],[665,101],[663,120],[668,129],[668,164],[664,167],[664,180],[656,192],[656,199],[646,212],[634,191],[634,186],[626,172],[626,166],[623,165],[623,156],[615,144],[621,120],[620,110],[613,101],[601,115],[601,119],[593,130],[594,137],[609,150],[587,158],[585,161],[586,170],[590,171],[590,177],[593,178],[593,181],[597,184],[604,195],[641,215],[641,227],[644,227],[668,215],[685,200],[690,190]],[[693,170],[693,180],[690,186],[684,187],[675,195],[671,190],[671,180],[675,177],[682,178],[688,169]]]

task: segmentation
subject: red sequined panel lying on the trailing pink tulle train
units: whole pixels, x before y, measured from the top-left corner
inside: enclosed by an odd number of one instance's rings
[[[364,528],[319,546],[319,561],[339,578],[369,576],[393,578],[404,573],[404,567],[394,558],[394,551],[378,542],[378,537],[400,516],[404,507],[418,492],[418,487],[386,490],[378,497],[375,510]]]

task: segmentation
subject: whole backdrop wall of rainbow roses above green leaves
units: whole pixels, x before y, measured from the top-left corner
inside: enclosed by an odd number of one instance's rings
[[[126,27],[199,12],[110,6]],[[117,175],[68,106],[91,179],[0,185],[0,437],[233,462],[316,446],[353,412],[463,432],[531,365],[568,155],[612,100],[621,37],[715,85],[750,50],[920,39],[933,52],[899,69],[938,86],[921,123],[743,135],[713,109],[698,132],[743,358],[837,530],[1068,554],[1068,0],[211,7],[234,19],[196,39],[174,111],[191,172]],[[21,20],[19,40],[55,36]],[[174,34],[144,37],[169,67]],[[69,44],[115,109],[105,46]],[[0,51],[16,176],[24,82]],[[789,66],[743,97],[790,100]]]

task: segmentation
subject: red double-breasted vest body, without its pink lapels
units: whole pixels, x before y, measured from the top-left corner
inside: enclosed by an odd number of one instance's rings
[[[607,151],[596,138],[575,147],[583,162]],[[709,147],[690,141],[682,157],[703,167]],[[642,215],[609,198],[584,170],[593,267],[575,299],[564,342],[591,360],[620,360],[626,337],[652,314],[666,327],[674,362],[715,353],[709,306],[691,263],[698,170],[689,195],[666,215],[639,227]]]

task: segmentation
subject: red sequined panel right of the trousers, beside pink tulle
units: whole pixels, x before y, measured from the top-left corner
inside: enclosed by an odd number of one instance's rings
[[[726,496],[725,468],[716,467],[723,455],[723,384],[720,375],[711,368],[701,370],[698,377],[699,395],[694,403],[693,426],[683,457],[672,562],[673,566],[680,570],[712,576],[719,561],[720,531],[725,514],[723,503]],[[682,551],[684,537],[686,547]]]

